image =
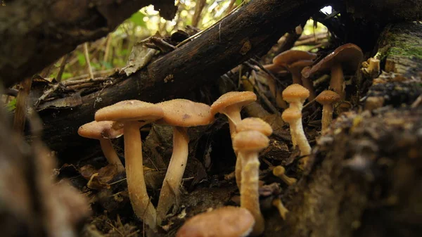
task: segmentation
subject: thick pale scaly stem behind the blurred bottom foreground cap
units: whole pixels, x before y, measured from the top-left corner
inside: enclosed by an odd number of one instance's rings
[[[260,210],[259,172],[260,161],[257,152],[239,151],[242,159],[241,207],[246,208],[255,218],[251,236],[259,236],[264,231],[264,217]]]

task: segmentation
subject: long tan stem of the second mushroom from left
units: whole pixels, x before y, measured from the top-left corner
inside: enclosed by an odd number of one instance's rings
[[[140,219],[151,229],[156,227],[156,213],[146,192],[143,177],[142,143],[139,124],[124,122],[124,157],[126,159],[126,179],[132,208]]]

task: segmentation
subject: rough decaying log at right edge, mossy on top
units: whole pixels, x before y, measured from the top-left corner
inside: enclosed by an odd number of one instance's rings
[[[283,194],[286,221],[274,212],[268,226],[282,226],[268,228],[266,236],[420,235],[421,60],[415,48],[403,47],[420,47],[413,44],[420,32],[420,23],[385,28],[378,51],[383,69],[394,60],[395,72],[373,79],[362,110],[340,115],[316,139],[312,167]],[[369,98],[381,103],[367,106]]]

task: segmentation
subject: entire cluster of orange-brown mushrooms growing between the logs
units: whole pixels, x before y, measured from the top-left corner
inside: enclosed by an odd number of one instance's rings
[[[286,57],[286,54],[289,54]],[[290,125],[293,146],[300,150],[301,165],[306,167],[311,147],[302,127],[302,108],[307,98],[316,99],[323,105],[322,127],[331,123],[332,103],[345,98],[343,68],[357,70],[362,61],[362,51],[354,44],[345,44],[326,58],[314,63],[316,55],[304,51],[286,51],[276,56],[272,65],[266,68],[271,72],[288,70],[293,75],[293,84],[281,93],[282,101],[289,103],[282,118]],[[309,77],[316,72],[331,70],[330,87],[319,96],[315,92]],[[303,85],[303,86],[302,86]],[[80,136],[98,139],[103,153],[110,164],[117,170],[126,171],[129,198],[134,213],[139,219],[155,229],[165,219],[166,214],[177,205],[180,196],[181,179],[188,159],[187,127],[210,124],[217,113],[226,115],[229,121],[232,145],[236,153],[235,177],[241,193],[241,207],[222,207],[211,212],[198,214],[189,219],[179,229],[177,236],[259,236],[264,231],[264,218],[259,203],[259,167],[260,151],[269,146],[272,129],[267,122],[257,117],[242,120],[243,106],[256,101],[252,91],[229,92],[222,95],[211,106],[174,99],[162,103],[143,101],[121,101],[101,108],[95,114],[95,121],[79,127]],[[280,100],[281,101],[281,100]],[[143,177],[142,143],[140,127],[145,124],[169,124],[173,127],[173,153],[162,184],[158,206],[151,203]],[[125,166],[117,156],[110,139],[124,135]],[[287,177],[281,166],[273,169],[274,175],[286,184],[294,184],[296,179]],[[278,202],[277,202],[278,201]],[[280,200],[273,203],[279,208],[282,217],[287,210]],[[210,228],[212,226],[212,228]],[[224,234],[223,234],[224,233]]]

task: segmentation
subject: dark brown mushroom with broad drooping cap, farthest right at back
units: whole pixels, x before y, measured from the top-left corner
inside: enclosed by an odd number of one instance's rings
[[[359,46],[355,44],[344,44],[316,63],[311,70],[302,73],[302,75],[309,78],[316,72],[331,70],[330,88],[339,94],[340,98],[344,100],[345,79],[343,76],[343,68],[355,73],[363,58],[364,54]]]

